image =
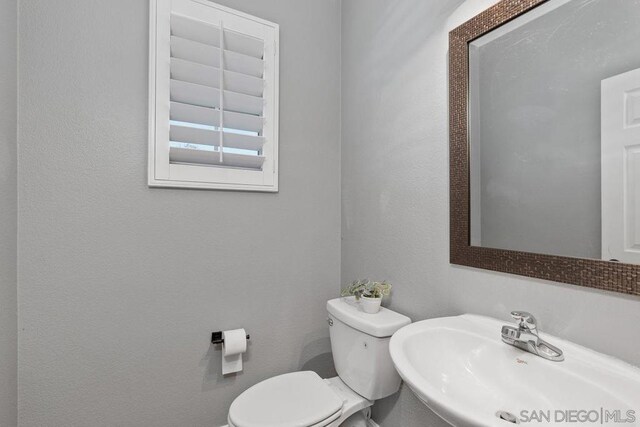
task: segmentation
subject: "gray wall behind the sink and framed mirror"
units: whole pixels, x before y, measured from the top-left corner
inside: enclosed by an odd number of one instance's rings
[[[640,298],[449,264],[448,31],[493,3],[343,2],[342,282],[390,280],[391,308],[414,320],[526,309],[543,331],[640,365]],[[374,416],[442,424],[406,388]]]

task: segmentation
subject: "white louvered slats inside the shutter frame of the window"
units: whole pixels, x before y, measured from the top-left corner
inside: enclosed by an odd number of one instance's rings
[[[262,168],[264,41],[171,14],[171,163]]]

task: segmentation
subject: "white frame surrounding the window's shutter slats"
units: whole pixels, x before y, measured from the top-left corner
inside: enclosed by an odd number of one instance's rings
[[[186,14],[211,8],[212,16],[225,13],[230,24],[245,34],[265,40],[265,144],[262,170],[169,162],[169,64],[170,16],[175,8]],[[172,9],[172,7],[174,9]],[[148,185],[236,191],[278,191],[279,25],[220,6],[208,0],[150,0],[149,29],[149,158]],[[259,25],[256,25],[259,24]],[[267,30],[264,30],[264,28]],[[260,28],[263,28],[261,31]],[[272,57],[273,61],[267,61]]]

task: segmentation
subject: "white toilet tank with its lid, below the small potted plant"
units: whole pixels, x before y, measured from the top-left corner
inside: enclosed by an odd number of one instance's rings
[[[389,341],[411,319],[384,307],[367,314],[354,297],[328,301],[327,311],[333,362],[340,379],[369,400],[397,392],[401,380],[391,361]]]

